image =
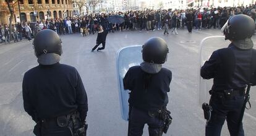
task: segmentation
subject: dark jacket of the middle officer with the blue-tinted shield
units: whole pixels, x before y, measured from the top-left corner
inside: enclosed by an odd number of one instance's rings
[[[148,82],[147,76],[151,76]],[[124,77],[124,89],[131,90],[129,104],[145,111],[156,111],[168,103],[172,73],[162,68],[157,74],[147,74],[140,66],[130,67]]]

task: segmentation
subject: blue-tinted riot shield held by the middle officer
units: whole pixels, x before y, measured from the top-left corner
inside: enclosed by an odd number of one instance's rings
[[[132,66],[138,66],[142,62],[142,46],[128,46],[120,49],[116,57],[117,83],[119,91],[119,101],[121,106],[122,119],[128,121],[129,114],[129,90],[124,90],[122,79],[127,70]]]

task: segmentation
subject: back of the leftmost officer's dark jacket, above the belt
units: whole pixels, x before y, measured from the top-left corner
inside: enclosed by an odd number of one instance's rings
[[[23,92],[28,93],[24,99],[29,99],[35,105],[36,114],[45,119],[68,114],[77,109],[77,97],[83,93],[76,90],[83,88],[80,76],[74,67],[64,64],[49,66],[39,65],[28,70],[24,75]],[[27,98],[26,96],[30,96]],[[80,101],[83,103],[83,101]],[[25,110],[32,112],[30,107]],[[84,107],[85,108],[85,107]]]

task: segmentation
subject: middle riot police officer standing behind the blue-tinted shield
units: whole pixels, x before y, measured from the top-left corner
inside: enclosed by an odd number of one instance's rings
[[[128,135],[142,135],[148,124],[149,135],[158,136],[163,134],[160,116],[166,112],[172,79],[171,70],[162,67],[169,49],[162,38],[150,38],[142,48],[143,62],[130,67],[123,80],[124,89],[131,91]]]

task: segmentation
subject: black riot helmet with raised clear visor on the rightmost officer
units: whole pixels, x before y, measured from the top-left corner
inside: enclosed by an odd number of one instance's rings
[[[244,40],[251,38],[255,30],[255,22],[248,15],[234,15],[221,28],[225,40]]]

